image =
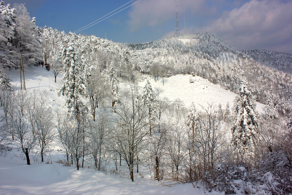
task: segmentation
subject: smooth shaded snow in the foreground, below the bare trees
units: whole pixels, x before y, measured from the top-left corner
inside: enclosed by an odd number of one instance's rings
[[[62,164],[26,165],[19,152],[0,156],[0,194],[200,194],[192,184],[161,186],[157,181],[131,182],[119,176]],[[56,155],[52,155],[53,159]],[[59,156],[61,156],[59,154]],[[54,161],[54,160],[53,160]],[[202,191],[203,190],[203,191]]]

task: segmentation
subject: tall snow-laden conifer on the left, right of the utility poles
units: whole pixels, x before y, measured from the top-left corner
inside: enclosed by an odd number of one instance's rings
[[[82,73],[82,65],[79,61],[78,54],[75,53],[74,44],[70,42],[68,48],[63,48],[62,58],[64,59],[64,83],[58,91],[58,95],[61,94],[67,96],[66,105],[68,112],[71,112],[73,108],[74,114],[79,114],[79,106],[81,103],[79,95],[86,95],[86,85]]]

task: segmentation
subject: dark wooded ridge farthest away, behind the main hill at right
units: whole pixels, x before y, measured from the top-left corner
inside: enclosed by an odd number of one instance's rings
[[[286,73],[292,73],[292,55],[279,51],[269,51],[265,49],[253,49],[241,51],[253,58],[258,63],[267,67],[280,70]]]

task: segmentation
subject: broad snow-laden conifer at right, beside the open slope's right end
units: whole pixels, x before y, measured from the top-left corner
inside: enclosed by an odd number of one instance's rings
[[[233,145],[244,156],[253,156],[259,141],[259,114],[248,82],[242,80],[234,99],[234,123],[231,127]]]

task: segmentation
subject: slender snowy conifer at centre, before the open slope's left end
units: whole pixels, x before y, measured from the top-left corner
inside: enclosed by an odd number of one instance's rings
[[[155,102],[155,94],[153,92],[149,79],[147,79],[145,87],[143,87],[143,89],[144,90],[143,90],[142,100],[143,100],[144,106],[148,108],[148,119],[149,119],[149,125],[150,125],[150,135],[151,135],[151,124],[155,119],[154,112],[155,112],[156,102]]]

